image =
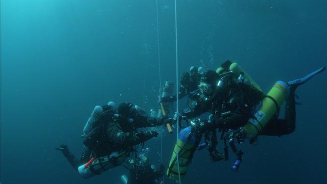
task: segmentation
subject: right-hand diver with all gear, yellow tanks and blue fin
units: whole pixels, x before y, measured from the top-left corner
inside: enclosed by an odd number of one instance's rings
[[[229,145],[236,156],[232,170],[237,171],[243,152],[236,148],[234,142],[242,143],[249,138],[252,144],[256,142],[258,135],[281,136],[292,133],[295,130],[296,88],[324,70],[325,67],[322,67],[303,78],[287,83],[277,81],[267,95],[262,93],[261,88],[237,63],[227,61],[223,67],[217,69],[222,72],[209,70],[204,73],[199,84],[199,92],[195,94],[198,99],[197,105],[191,112],[183,112],[178,116],[179,120],[188,120],[206,112],[210,113],[207,120],[188,121],[190,127],[181,130],[179,134],[174,151],[188,155],[180,158],[183,159],[183,163],[188,163],[180,165],[183,177],[196,148],[208,147],[211,159],[219,161],[228,160]],[[279,109],[284,101],[286,101],[285,117],[279,119]],[[221,131],[220,140],[224,142],[224,153],[219,153],[216,149],[218,144],[216,129]],[[205,142],[200,144],[202,135]],[[177,179],[175,152],[167,175]]]

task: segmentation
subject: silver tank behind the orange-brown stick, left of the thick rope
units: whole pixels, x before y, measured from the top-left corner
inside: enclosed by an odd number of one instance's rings
[[[172,82],[166,81],[165,85],[160,88],[159,98],[162,99],[172,96],[173,87],[174,86]],[[162,108],[161,108],[161,104],[162,104]],[[159,104],[157,118],[161,118],[162,115],[164,115],[162,111],[165,111],[165,115],[169,114],[169,104],[170,104],[169,102]]]

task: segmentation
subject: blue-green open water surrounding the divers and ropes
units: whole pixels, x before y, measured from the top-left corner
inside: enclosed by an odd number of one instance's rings
[[[158,0],[162,81],[176,80],[174,1]],[[264,91],[327,65],[327,1],[177,1],[179,72],[237,61]],[[109,100],[156,108],[155,1],[1,1],[1,183],[119,183],[123,167],[81,179],[54,148]],[[244,161],[196,152],[184,183],[325,183],[327,72],[297,93],[296,131],[244,144]],[[176,136],[163,137],[167,165]],[[160,162],[159,139],[146,143]],[[174,183],[168,181],[166,183]]]

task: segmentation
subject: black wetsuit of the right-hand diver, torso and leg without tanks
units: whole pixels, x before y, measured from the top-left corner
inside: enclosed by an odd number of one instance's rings
[[[212,123],[207,124],[207,129],[237,129],[246,125],[256,105],[265,96],[250,85],[238,83],[233,77],[224,83],[225,86],[217,88],[212,97],[199,99],[193,111],[185,112],[183,115],[189,119],[210,112],[214,116]],[[200,97],[200,94],[197,96]],[[278,119],[277,116],[272,118],[260,135],[281,136],[294,130],[295,101],[294,94],[291,94],[286,101],[285,118]]]

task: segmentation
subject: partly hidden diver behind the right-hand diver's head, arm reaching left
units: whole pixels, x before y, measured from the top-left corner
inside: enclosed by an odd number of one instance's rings
[[[179,89],[178,97],[182,99],[186,96],[190,98],[190,100],[195,100],[193,98],[193,94],[198,90],[198,84],[201,78],[201,74],[204,72],[204,68],[202,66],[190,67],[190,72],[185,72],[181,76],[181,87]],[[161,97],[159,103],[167,103],[167,102],[175,102],[177,100],[177,96],[164,96]],[[189,102],[190,106],[192,106],[192,102]]]

